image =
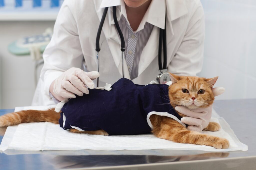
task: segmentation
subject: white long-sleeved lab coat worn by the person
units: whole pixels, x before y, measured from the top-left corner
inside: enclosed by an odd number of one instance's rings
[[[54,102],[49,96],[49,87],[53,80],[71,67],[87,71],[97,71],[95,41],[104,7],[118,6],[117,18],[126,17],[123,0],[65,0],[57,17],[54,34],[47,46],[43,58],[38,87],[33,105],[49,105]],[[152,0],[139,28],[145,22],[154,26],[150,38],[144,47],[138,66],[136,84],[148,84],[156,80],[158,71],[159,27],[164,29],[166,14],[167,65],[168,71],[180,75],[196,75],[201,71],[204,42],[204,12],[199,0]],[[112,8],[106,16],[100,42],[100,86],[113,84],[122,77],[120,38],[116,32]],[[126,49],[129,50],[129,49]],[[163,56],[163,55],[162,55]],[[130,79],[124,63],[124,75]]]

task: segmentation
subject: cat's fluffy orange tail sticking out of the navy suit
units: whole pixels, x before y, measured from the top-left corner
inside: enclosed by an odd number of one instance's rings
[[[52,122],[59,124],[60,113],[54,109],[41,110],[23,110],[19,112],[7,113],[0,116],[0,127],[18,125],[28,122]]]

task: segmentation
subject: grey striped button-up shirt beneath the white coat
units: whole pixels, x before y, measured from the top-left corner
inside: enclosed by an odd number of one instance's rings
[[[143,48],[147,44],[154,25],[146,22],[144,29],[134,33],[126,18],[122,15],[119,26],[125,41],[125,61],[131,80],[138,76],[138,65]]]

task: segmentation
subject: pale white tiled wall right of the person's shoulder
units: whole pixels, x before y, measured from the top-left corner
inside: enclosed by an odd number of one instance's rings
[[[205,11],[204,65],[199,76],[219,76],[217,99],[256,98],[256,1],[201,0]]]

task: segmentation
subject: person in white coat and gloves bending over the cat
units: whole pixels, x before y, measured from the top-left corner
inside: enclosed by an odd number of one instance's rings
[[[125,40],[124,64],[113,6]],[[99,74],[95,42],[105,7],[110,8],[100,37]],[[167,71],[196,76],[202,68],[205,36],[204,11],[199,0],[65,0],[43,55],[44,67],[32,104],[50,105],[74,98],[74,94],[86,95],[88,88],[96,86],[92,80],[99,76],[99,86],[113,84],[123,77],[123,72],[136,84],[156,80],[159,28],[165,29],[165,25]],[[184,123],[197,131],[207,126],[212,110],[177,109],[191,116]]]

